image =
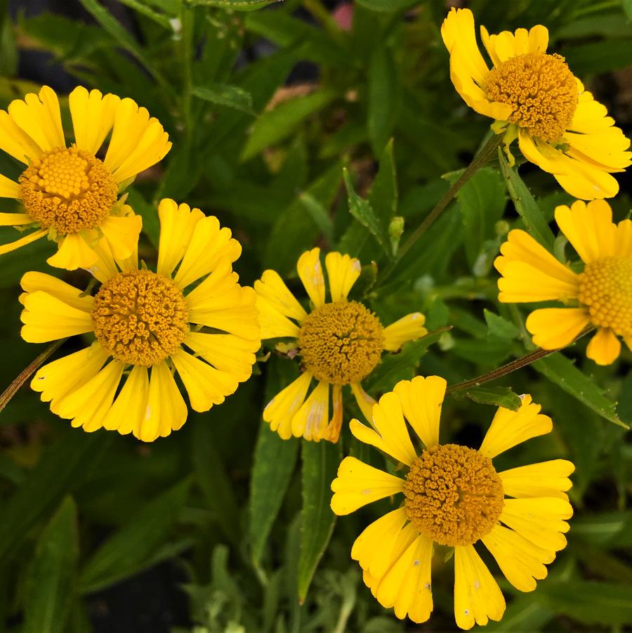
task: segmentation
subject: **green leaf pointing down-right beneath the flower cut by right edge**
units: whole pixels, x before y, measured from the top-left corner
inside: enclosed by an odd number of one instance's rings
[[[551,354],[537,360],[532,366],[608,422],[628,428],[617,416],[614,403],[603,395],[595,381],[577,369],[564,355]]]

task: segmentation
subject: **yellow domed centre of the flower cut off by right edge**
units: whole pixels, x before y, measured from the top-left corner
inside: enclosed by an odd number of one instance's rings
[[[593,325],[632,334],[632,257],[606,257],[586,264],[579,275],[579,301]]]

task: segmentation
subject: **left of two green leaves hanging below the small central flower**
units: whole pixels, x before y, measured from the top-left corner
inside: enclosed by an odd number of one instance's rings
[[[261,561],[263,547],[268,540],[281,502],[290,483],[298,441],[295,438],[282,440],[270,424],[261,423],[254,452],[254,464],[250,483],[250,542],[252,561]]]

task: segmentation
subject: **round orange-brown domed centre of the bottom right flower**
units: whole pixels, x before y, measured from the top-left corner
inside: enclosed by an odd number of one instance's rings
[[[478,450],[444,444],[424,450],[404,483],[416,528],[441,545],[471,545],[489,534],[503,510],[503,485]]]

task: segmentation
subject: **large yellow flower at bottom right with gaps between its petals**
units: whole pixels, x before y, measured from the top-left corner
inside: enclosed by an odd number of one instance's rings
[[[331,483],[338,515],[403,492],[403,504],[371,523],[351,557],[379,603],[397,618],[425,622],[433,611],[430,568],[434,544],[454,547],[454,615],[470,629],[500,620],[501,590],[474,545],[482,541],[507,580],[523,592],[546,577],[546,563],[566,546],[572,507],[565,490],[574,466],[564,459],[496,472],[492,459],[553,428],[531,396],[518,411],[499,407],[478,450],[439,443],[446,382],[438,376],[402,380],[373,407],[370,429],[357,420],[351,432],[407,466],[400,478],[345,457]],[[417,455],[406,422],[426,446]],[[507,498],[511,497],[511,498]]]

